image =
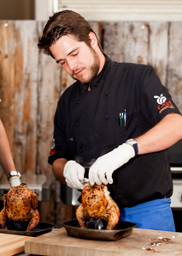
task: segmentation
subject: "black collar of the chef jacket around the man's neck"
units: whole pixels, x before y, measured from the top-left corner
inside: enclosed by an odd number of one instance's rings
[[[104,54],[104,56],[106,60],[105,60],[105,64],[103,65],[103,70],[101,70],[101,72],[91,80],[91,83],[90,83],[91,89],[97,88],[99,84],[101,84],[101,82],[103,82],[106,79],[106,76],[109,74],[109,70],[111,67],[111,60],[107,55]],[[88,83],[87,84],[83,84],[81,82],[79,83],[82,91],[88,90],[88,86],[89,86]]]

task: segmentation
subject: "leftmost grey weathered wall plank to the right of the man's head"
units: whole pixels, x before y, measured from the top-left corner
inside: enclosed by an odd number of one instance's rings
[[[103,22],[103,52],[114,61],[123,62],[124,22]]]

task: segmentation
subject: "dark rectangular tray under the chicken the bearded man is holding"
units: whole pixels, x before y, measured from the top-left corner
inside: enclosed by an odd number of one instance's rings
[[[62,226],[69,236],[103,241],[117,241],[132,234],[132,229],[138,224],[133,222],[119,221],[112,230],[81,229],[77,219],[64,222]]]

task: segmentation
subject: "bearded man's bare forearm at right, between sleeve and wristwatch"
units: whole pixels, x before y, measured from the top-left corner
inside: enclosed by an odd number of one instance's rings
[[[138,155],[161,151],[171,147],[182,138],[182,116],[169,113],[150,131],[140,137],[138,142]]]

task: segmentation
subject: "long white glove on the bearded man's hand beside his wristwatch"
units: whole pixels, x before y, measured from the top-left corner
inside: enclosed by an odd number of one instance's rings
[[[89,180],[91,186],[94,183],[101,185],[112,184],[112,174],[114,170],[120,168],[135,156],[135,150],[132,145],[123,143],[118,148],[97,158],[97,161],[89,169]]]

